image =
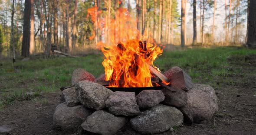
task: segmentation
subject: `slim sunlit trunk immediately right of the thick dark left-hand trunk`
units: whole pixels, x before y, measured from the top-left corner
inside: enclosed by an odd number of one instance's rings
[[[31,0],[30,54],[34,53],[34,0]]]

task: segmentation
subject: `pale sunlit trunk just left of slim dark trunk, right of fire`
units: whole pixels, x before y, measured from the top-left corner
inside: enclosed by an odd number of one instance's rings
[[[186,40],[186,0],[181,0],[181,47],[185,46]]]

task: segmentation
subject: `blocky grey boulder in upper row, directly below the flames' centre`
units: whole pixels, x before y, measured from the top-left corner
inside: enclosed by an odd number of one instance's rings
[[[110,113],[115,115],[134,116],[141,113],[134,92],[114,92],[108,97],[106,107]]]

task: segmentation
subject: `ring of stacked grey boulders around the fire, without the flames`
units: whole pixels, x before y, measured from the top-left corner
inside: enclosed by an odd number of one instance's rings
[[[116,91],[95,83],[89,72],[76,69],[72,84],[62,91],[62,100],[53,115],[54,126],[63,131],[85,130],[100,135],[135,132],[166,132],[185,123],[209,120],[218,110],[217,97],[210,85],[193,84],[179,67],[164,75],[177,90]],[[176,80],[175,80],[176,79]],[[127,126],[125,126],[127,125]]]

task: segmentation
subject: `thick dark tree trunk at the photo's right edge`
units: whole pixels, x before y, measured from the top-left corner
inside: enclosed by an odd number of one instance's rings
[[[250,0],[249,4],[249,18],[248,18],[248,48],[256,48],[256,1]]]

